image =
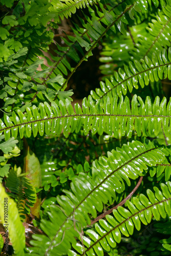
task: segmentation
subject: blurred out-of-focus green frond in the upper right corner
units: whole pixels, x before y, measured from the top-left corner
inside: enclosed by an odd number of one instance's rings
[[[158,11],[158,15],[154,14],[148,24],[144,22],[132,27],[127,25],[126,35],[115,38],[110,34],[104,40],[100,53],[102,56],[99,60],[105,63],[100,67],[101,73],[113,74],[116,64],[121,67],[132,59],[144,59],[145,56],[152,58],[153,53],[157,54],[163,48],[167,50],[170,46],[170,10],[170,4],[162,6],[162,10]]]

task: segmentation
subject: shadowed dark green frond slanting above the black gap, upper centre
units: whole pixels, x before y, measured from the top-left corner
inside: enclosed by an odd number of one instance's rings
[[[67,82],[72,74],[83,60],[87,60],[92,55],[92,50],[109,29],[112,29],[115,33],[116,28],[119,28],[121,32],[125,30],[124,23],[127,23],[127,19],[124,14],[132,8],[135,8],[132,0],[120,2],[118,5],[111,7],[110,10],[105,10],[102,5],[103,13],[96,8],[97,14],[93,12],[92,19],[87,17],[87,22],[80,19],[82,27],[76,25],[73,28],[74,36],[68,35],[68,39],[62,38],[65,47],[57,45],[57,50],[54,50],[57,56],[51,55],[55,62],[49,61],[53,67],[48,74],[48,78],[54,78],[58,74],[63,77],[68,75],[69,72],[70,74],[67,80],[63,79],[59,84],[54,84],[56,90],[64,90],[67,87]],[[72,68],[66,57],[73,59],[76,66]]]

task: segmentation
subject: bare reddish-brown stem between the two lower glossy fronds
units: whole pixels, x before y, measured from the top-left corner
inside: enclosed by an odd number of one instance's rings
[[[138,181],[138,183],[137,183],[137,185],[134,187],[134,189],[131,191],[131,193],[130,193],[127,197],[125,197],[119,204],[117,204],[117,205],[114,206],[113,208],[111,208],[111,209],[109,209],[109,210],[103,212],[103,214],[99,215],[96,219],[94,219],[93,221],[91,221],[91,225],[94,224],[94,223],[96,223],[96,222],[99,221],[100,219],[104,218],[106,215],[111,214],[111,212],[112,212],[114,209],[117,209],[118,206],[122,206],[122,205],[126,202],[126,200],[129,200],[129,199],[132,197],[132,195],[135,193],[135,191],[137,190],[137,188],[139,187],[139,185],[141,184],[142,179],[143,179],[143,177],[141,176],[140,179],[139,179],[139,181]]]

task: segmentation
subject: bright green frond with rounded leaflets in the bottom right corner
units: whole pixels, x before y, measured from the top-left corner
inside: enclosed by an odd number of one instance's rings
[[[133,198],[132,202],[127,201],[127,208],[119,206],[113,210],[113,216],[107,215],[106,221],[100,220],[95,224],[95,229],[88,229],[87,236],[82,237],[84,248],[81,244],[73,245],[78,251],[70,251],[69,256],[75,255],[103,255],[102,251],[111,251],[116,243],[120,243],[121,235],[129,237],[133,234],[134,228],[140,230],[141,222],[147,225],[152,221],[152,215],[159,221],[160,218],[170,217],[171,210],[171,182],[167,185],[161,183],[161,190],[154,186],[155,194],[147,189],[147,197],[140,194],[139,198]]]

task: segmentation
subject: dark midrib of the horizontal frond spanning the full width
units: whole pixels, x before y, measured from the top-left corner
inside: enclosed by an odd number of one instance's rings
[[[3,129],[0,129],[0,132],[2,131],[5,131],[5,130],[9,130],[11,128],[14,128],[14,127],[18,127],[18,126],[22,126],[22,125],[26,125],[26,124],[29,124],[29,123],[36,123],[36,122],[40,122],[40,121],[46,121],[46,120],[52,120],[52,119],[58,119],[58,118],[65,118],[65,117],[86,117],[86,116],[92,116],[92,117],[96,117],[96,116],[121,116],[121,117],[137,117],[137,118],[141,118],[141,117],[158,117],[158,118],[162,118],[162,117],[171,117],[171,116],[159,116],[159,115],[119,115],[119,114],[76,114],[76,115],[67,115],[67,116],[57,116],[57,117],[48,117],[48,118],[42,118],[42,119],[38,119],[38,120],[33,120],[33,121],[28,121],[28,122],[24,122],[24,123],[19,123],[19,124],[14,124],[12,126],[8,126],[8,127],[5,127]]]

